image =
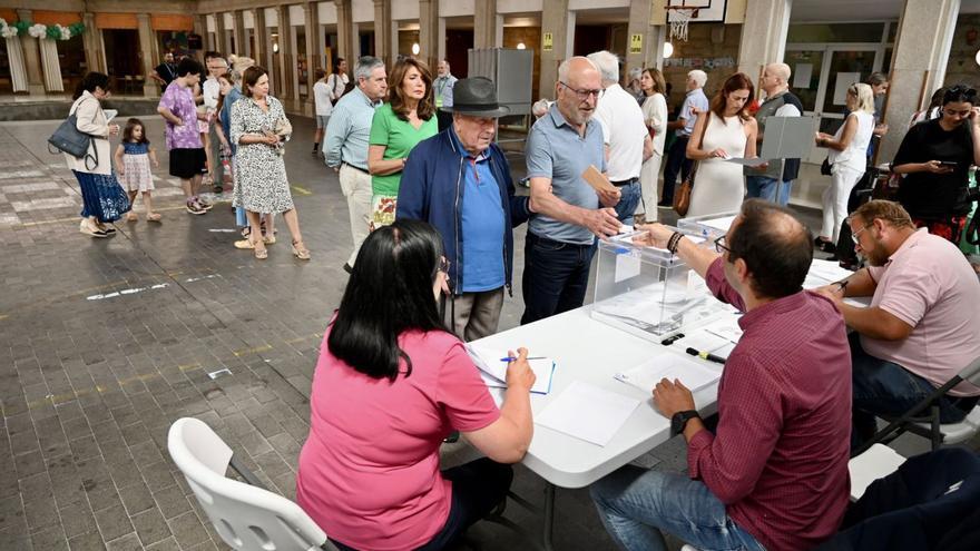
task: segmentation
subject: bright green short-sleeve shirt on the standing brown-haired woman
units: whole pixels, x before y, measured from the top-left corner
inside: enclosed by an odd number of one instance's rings
[[[416,130],[411,122],[398,118],[391,109],[391,104],[384,104],[374,111],[371,121],[371,137],[369,145],[384,146],[384,160],[401,159],[423,139],[431,138],[439,132],[439,122],[435,115],[429,120],[422,121]],[[374,195],[396,196],[399,185],[402,181],[402,173],[389,175],[374,175],[371,177],[371,190]]]

